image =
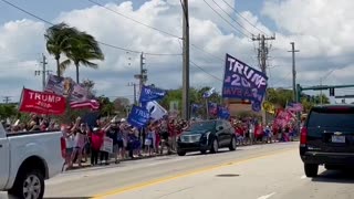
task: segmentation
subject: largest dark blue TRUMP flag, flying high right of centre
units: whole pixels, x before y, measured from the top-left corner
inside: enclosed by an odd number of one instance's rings
[[[261,111],[261,104],[268,85],[264,73],[226,54],[222,83],[223,98],[241,98],[252,102],[253,111]]]

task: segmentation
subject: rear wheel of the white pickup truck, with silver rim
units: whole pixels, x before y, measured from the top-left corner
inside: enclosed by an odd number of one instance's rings
[[[19,199],[42,199],[44,195],[43,175],[39,170],[19,174],[9,195]]]

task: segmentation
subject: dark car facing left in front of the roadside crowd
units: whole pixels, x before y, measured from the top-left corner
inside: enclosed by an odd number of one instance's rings
[[[195,123],[177,138],[179,156],[185,156],[188,151],[218,153],[222,147],[236,150],[235,129],[228,121],[222,119]]]

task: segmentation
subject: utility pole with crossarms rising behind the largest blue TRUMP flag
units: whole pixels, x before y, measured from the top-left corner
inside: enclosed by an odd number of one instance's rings
[[[258,49],[258,59],[260,63],[260,67],[262,73],[267,75],[267,59],[268,59],[268,53],[269,53],[269,48],[266,41],[268,40],[275,40],[275,35],[273,36],[267,36],[264,34],[258,36],[252,36],[252,41],[259,41],[259,49]],[[267,92],[264,94],[264,100],[267,100]],[[262,123],[267,124],[267,113],[266,109],[262,111]]]

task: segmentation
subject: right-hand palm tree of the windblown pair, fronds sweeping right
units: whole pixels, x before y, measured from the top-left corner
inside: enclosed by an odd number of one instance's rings
[[[91,62],[92,60],[104,60],[104,55],[98,45],[98,42],[94,36],[87,34],[86,32],[80,32],[74,40],[71,41],[71,46],[67,52],[65,52],[67,60],[62,63],[62,69],[64,70],[70,65],[71,61],[76,67],[76,83],[79,84],[79,66],[84,65],[92,69],[97,69],[96,63]]]

